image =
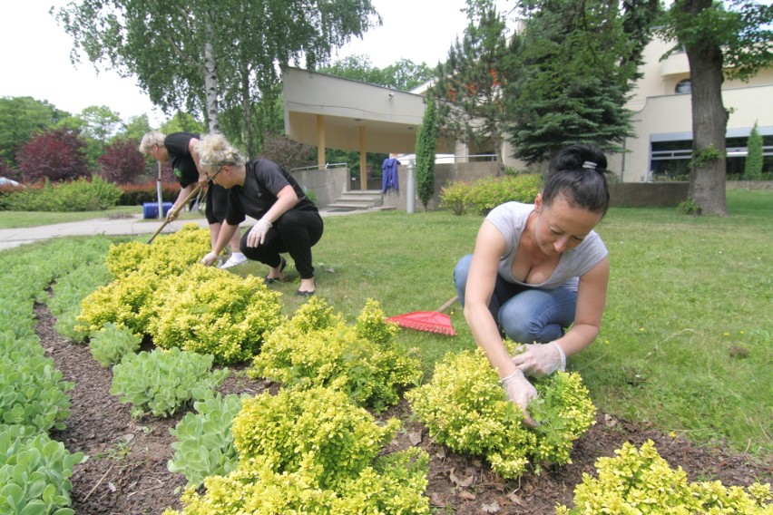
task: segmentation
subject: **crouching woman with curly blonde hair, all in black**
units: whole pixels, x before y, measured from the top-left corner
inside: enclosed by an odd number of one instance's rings
[[[281,254],[289,253],[300,275],[298,295],[314,295],[311,247],[322,237],[323,223],[298,182],[272,160],[245,161],[221,134],[204,136],[199,156],[201,170],[210,180],[229,189],[220,238],[201,263],[213,264],[239,224],[250,216],[258,221],[241,237],[244,255],[271,268],[266,276],[270,284],[286,265]]]

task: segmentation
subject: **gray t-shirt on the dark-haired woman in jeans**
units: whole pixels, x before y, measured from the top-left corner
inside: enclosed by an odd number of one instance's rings
[[[500,277],[509,283],[527,287],[543,289],[564,287],[577,291],[580,276],[598,265],[609,254],[602,238],[594,230],[582,240],[580,245],[563,252],[553,274],[543,283],[534,285],[516,280],[513,277],[515,251],[518,249],[518,242],[521,241],[523,229],[526,228],[526,221],[533,210],[533,204],[506,202],[492,209],[485,218],[499,229],[506,243],[504,255],[499,260]]]

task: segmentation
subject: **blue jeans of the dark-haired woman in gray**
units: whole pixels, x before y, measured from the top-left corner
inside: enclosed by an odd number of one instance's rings
[[[465,306],[465,287],[472,254],[459,259],[454,283],[459,304]],[[508,283],[499,274],[494,295],[488,305],[494,322],[511,340],[519,344],[544,344],[563,336],[574,322],[577,292],[567,288],[540,289]]]

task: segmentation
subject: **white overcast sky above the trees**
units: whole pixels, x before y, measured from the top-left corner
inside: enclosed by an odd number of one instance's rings
[[[63,111],[78,113],[90,105],[106,105],[122,119],[148,114],[152,125],[166,116],[155,109],[133,78],[113,71],[97,73],[85,57],[70,63],[72,38],[49,14],[51,6],[69,0],[4,0],[0,16],[0,96],[32,96]],[[501,6],[513,4],[499,0]],[[400,59],[435,66],[464,32],[465,0],[373,0],[383,26],[334,54],[367,54],[384,68]],[[502,7],[500,7],[502,8]]]

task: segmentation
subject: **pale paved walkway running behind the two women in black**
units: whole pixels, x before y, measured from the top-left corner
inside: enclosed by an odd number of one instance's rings
[[[377,210],[377,209],[375,209]],[[353,215],[369,212],[365,209],[354,211],[336,211],[320,209],[319,214],[323,218],[338,215]],[[175,220],[167,225],[161,231],[161,234],[175,232],[184,224],[195,222],[201,228],[209,226],[206,219],[186,219]],[[121,219],[88,219],[80,222],[70,222],[64,224],[54,224],[47,226],[37,226],[30,228],[3,228],[0,229],[0,250],[14,248],[25,243],[32,243],[41,239],[58,238],[62,236],[95,236],[99,234],[108,236],[122,236],[132,234],[152,235],[161,225],[161,220],[142,219],[142,215],[133,215],[129,218]],[[251,226],[255,223],[254,219],[247,219],[244,226]],[[150,238],[150,236],[148,237]]]

